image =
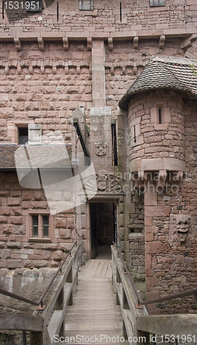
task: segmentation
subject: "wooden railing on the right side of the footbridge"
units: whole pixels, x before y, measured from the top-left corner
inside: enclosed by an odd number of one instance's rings
[[[148,315],[144,304],[158,302],[158,299],[142,301],[140,294],[129,274],[118,248],[111,246],[112,278],[117,304],[120,304],[123,317],[123,335],[129,345],[148,345],[156,343],[157,336],[162,342],[197,343],[197,314]],[[176,299],[194,295],[196,288],[179,294],[161,297],[161,300]],[[151,335],[151,337],[150,337]],[[154,337],[153,337],[154,335]]]

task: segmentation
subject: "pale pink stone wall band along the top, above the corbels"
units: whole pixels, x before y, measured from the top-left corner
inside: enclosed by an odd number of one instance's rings
[[[57,1],[52,2],[46,10],[35,15],[19,14],[17,11],[9,13],[10,23],[6,13],[1,21],[1,32],[42,32],[63,31],[79,32],[121,32],[125,30],[159,30],[169,32],[176,29],[179,32],[190,29],[197,21],[196,2],[194,0],[166,1],[166,6],[150,7],[149,0],[120,1],[95,0],[93,11],[79,10],[79,1],[58,1],[59,14],[57,17]],[[5,11],[6,12],[6,11]],[[2,6],[0,9],[2,16]],[[39,18],[41,17],[41,18]],[[18,20],[16,20],[18,19]]]

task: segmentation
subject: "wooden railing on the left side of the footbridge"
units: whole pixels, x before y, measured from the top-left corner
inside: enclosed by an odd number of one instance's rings
[[[30,345],[55,345],[57,343],[54,342],[55,335],[65,336],[66,308],[73,304],[73,293],[77,284],[78,249],[78,246],[73,247],[59,270],[58,282],[56,281],[56,284],[50,282],[45,295],[42,295],[43,305],[36,307],[32,313],[24,313],[20,310],[9,311],[9,314],[1,313],[0,329],[29,331]]]

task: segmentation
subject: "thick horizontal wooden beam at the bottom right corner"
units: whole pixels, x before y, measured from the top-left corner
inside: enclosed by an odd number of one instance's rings
[[[176,314],[176,315],[148,315],[137,316],[136,328],[138,331],[145,331],[156,335],[196,335],[197,315]],[[187,342],[187,339],[185,340]],[[192,342],[194,339],[192,340]]]

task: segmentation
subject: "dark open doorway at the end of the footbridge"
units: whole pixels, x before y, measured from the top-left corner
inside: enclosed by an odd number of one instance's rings
[[[113,202],[91,203],[91,259],[110,258],[114,239]]]

